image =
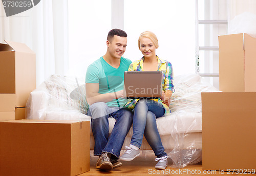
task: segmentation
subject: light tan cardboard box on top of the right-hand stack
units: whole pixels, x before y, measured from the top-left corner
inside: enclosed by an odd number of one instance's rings
[[[256,92],[256,38],[219,36],[220,91]]]

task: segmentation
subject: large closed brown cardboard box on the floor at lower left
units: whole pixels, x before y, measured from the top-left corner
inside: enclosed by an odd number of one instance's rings
[[[0,122],[0,175],[78,175],[90,170],[90,121]]]

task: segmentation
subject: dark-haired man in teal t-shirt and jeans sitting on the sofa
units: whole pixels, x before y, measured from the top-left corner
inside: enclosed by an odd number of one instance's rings
[[[131,60],[123,58],[127,34],[112,29],[106,41],[106,54],[89,65],[86,73],[86,98],[92,116],[92,131],[95,140],[94,155],[99,156],[96,168],[112,170],[122,166],[118,161],[124,138],[129,132],[133,113],[123,108],[123,77]],[[109,136],[109,117],[116,122]]]

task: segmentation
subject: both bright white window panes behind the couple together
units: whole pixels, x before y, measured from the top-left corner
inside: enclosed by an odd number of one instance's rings
[[[137,41],[150,30],[159,40],[157,55],[173,64],[174,74],[195,73],[195,2],[191,0],[124,1],[124,31],[127,48],[124,57],[142,57]],[[112,29],[111,0],[69,0],[69,68],[84,74],[90,63],[106,52],[106,36]],[[81,72],[81,70],[83,70]],[[79,71],[79,73],[78,73]]]

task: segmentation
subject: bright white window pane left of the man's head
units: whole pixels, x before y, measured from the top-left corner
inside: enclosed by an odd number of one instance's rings
[[[69,74],[85,77],[90,63],[106,52],[111,0],[69,0]]]

